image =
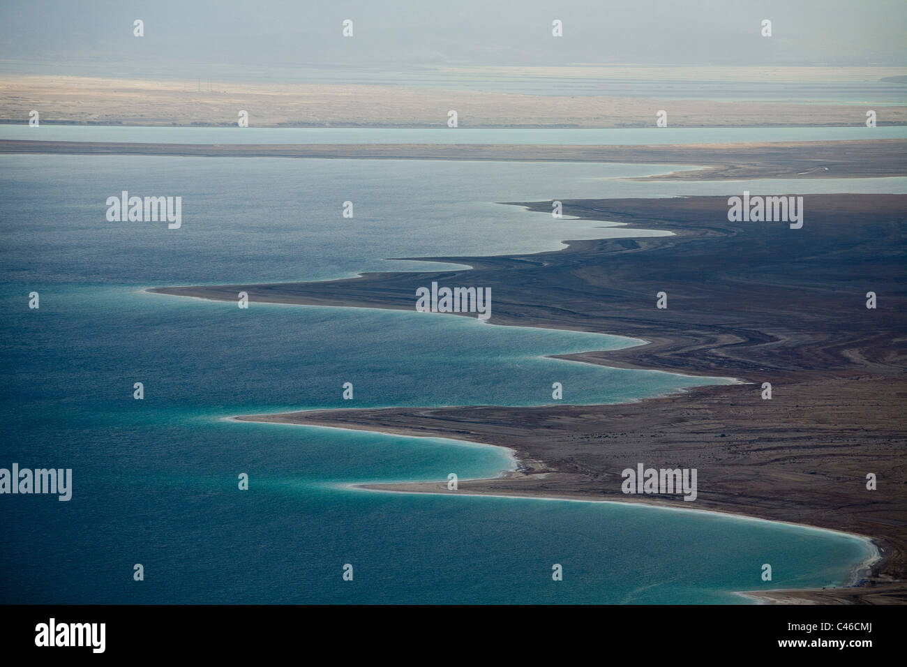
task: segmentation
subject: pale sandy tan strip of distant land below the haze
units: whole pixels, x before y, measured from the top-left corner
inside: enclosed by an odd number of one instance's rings
[[[760,76],[775,80],[791,69],[803,77],[810,68],[773,69]],[[903,69],[880,70],[885,73],[902,74]],[[473,74],[464,74],[464,86]],[[551,90],[565,75],[582,73],[569,68],[548,73]],[[828,76],[834,74],[824,81]],[[865,73],[859,78],[873,80]],[[208,82],[196,80],[0,74],[0,122],[26,123],[33,109],[45,122],[166,126],[235,126],[239,111],[247,111],[252,127],[446,127],[450,110],[457,112],[460,127],[476,128],[655,127],[659,110],[668,112],[671,127],[862,126],[869,109],[880,125],[907,123],[907,105],[538,95],[361,83],[218,82],[209,90]]]

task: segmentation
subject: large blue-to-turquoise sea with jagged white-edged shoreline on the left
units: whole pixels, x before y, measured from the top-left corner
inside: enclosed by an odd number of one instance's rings
[[[541,405],[700,382],[546,355],[626,338],[374,309],[235,304],[168,284],[324,280],[427,268],[389,257],[551,250],[634,234],[494,201],[719,193],[664,168],[80,156],[0,158],[0,466],[73,468],[73,499],[0,495],[0,601],[724,603],[842,584],[866,541],[639,505],[350,488],[493,476],[507,450],[237,423],[306,407]],[[752,191],[902,191],[902,179]],[[183,226],[111,223],[106,197],[182,195]],[[781,190],[778,190],[781,191]],[[341,205],[356,203],[344,219]],[[569,215],[569,210],[565,210]],[[808,212],[806,224],[809,223]],[[41,308],[27,308],[39,291]],[[607,304],[603,304],[606,308]],[[493,320],[492,320],[493,321]],[[145,398],[132,399],[141,381]],[[341,397],[351,381],[355,398]],[[237,476],[249,474],[249,491]],[[619,484],[619,479],[614,480]],[[700,479],[699,484],[707,480]],[[141,563],[145,580],[132,580]],[[342,580],[353,564],[353,582]],[[562,564],[564,580],[551,580]],[[761,581],[761,565],[774,580]]]

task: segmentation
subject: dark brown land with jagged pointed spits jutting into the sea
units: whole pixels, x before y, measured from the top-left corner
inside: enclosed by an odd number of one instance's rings
[[[551,211],[548,201],[521,204]],[[763,599],[907,602],[907,196],[805,195],[803,229],[729,222],[727,198],[565,201],[564,213],[675,236],[569,241],[566,250],[433,258],[473,269],[373,273],[352,280],[161,288],[164,294],[414,309],[414,292],[491,287],[493,323],[644,338],[648,345],[565,358],[726,376],[634,404],[321,410],[242,417],[507,446],[520,470],[461,481],[460,493],[636,500],[620,471],[695,467],[685,503],[872,537],[882,560],[863,585]],[[668,309],[656,293],[668,293]],[[865,307],[866,292],[878,308]],[[474,317],[474,316],[473,316]],[[760,397],[761,383],[773,387]],[[866,475],[878,489],[866,489]],[[448,492],[434,484],[382,488]],[[643,496],[647,502],[653,496]]]

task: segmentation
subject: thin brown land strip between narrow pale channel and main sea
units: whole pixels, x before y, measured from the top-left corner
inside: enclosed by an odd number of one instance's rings
[[[455,132],[455,131],[452,131]],[[867,130],[867,132],[870,132]],[[390,160],[623,162],[700,167],[660,180],[724,181],[757,178],[877,178],[902,176],[907,141],[764,142],[660,146],[527,144],[193,144],[0,140],[2,153],[190,155]]]

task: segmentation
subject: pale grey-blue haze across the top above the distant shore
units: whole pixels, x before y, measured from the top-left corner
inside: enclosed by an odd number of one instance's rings
[[[144,22],[144,36],[132,22]],[[354,35],[341,34],[354,22]],[[551,22],[563,22],[563,36]],[[770,38],[760,34],[772,21]],[[566,64],[902,66],[907,5],[870,0],[640,0],[486,3],[442,8],[415,0],[331,5],[161,0],[14,0],[0,7],[0,61],[101,67],[116,75],[167,76],[193,66],[254,74],[268,67],[559,66]],[[54,74],[57,72],[54,71]]]

